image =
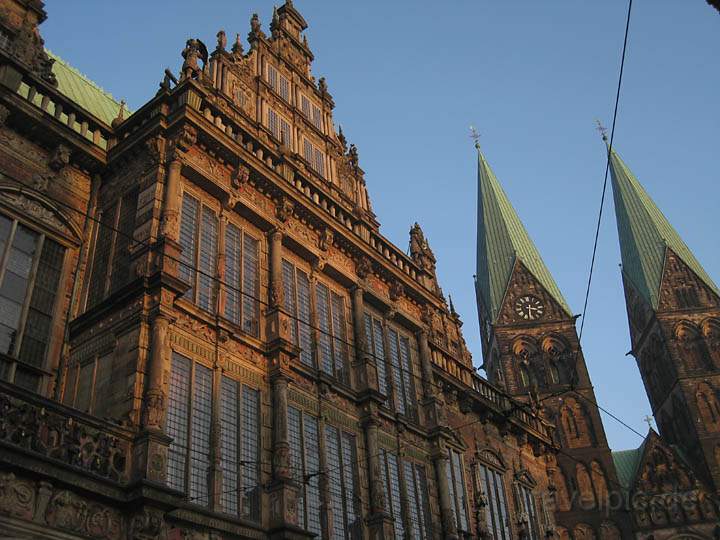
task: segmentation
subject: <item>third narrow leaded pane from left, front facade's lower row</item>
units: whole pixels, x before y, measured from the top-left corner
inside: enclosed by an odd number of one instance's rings
[[[222,456],[222,509],[238,515],[238,384],[222,377],[220,384],[220,453]]]

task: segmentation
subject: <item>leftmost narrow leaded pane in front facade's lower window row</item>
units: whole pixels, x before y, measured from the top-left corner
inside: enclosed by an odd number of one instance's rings
[[[185,491],[189,390],[190,360],[178,354],[173,354],[166,426],[168,436],[172,437],[168,452],[167,478],[168,485],[178,491]]]

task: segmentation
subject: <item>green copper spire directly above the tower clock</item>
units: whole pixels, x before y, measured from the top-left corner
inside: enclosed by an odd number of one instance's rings
[[[477,290],[493,322],[497,320],[516,260],[572,315],[485,156],[478,151]]]

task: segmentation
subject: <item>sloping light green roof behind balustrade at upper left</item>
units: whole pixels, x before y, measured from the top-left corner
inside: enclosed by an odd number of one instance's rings
[[[60,93],[110,125],[118,115],[120,103],[62,58],[47,49],[45,52],[55,60],[52,69],[57,78]],[[125,118],[128,116],[130,113],[126,109]]]

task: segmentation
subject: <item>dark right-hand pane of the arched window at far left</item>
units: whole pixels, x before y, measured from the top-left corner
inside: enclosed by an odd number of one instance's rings
[[[45,239],[18,355],[21,360],[37,367],[45,364],[45,354],[52,327],[53,307],[60,283],[64,254],[65,250],[60,244],[48,238]]]

